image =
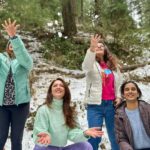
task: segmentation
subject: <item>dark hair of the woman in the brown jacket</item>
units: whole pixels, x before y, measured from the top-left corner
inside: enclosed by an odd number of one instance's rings
[[[138,92],[138,94],[139,94],[139,97],[138,97],[138,99],[139,99],[139,98],[142,96],[142,92],[141,92],[139,86],[138,86],[134,81],[125,81],[125,82],[121,85],[121,87],[120,87],[121,95],[122,95],[122,96],[124,95],[125,86],[126,86],[127,84],[129,84],[129,83],[134,84],[134,86],[136,87],[137,92]]]

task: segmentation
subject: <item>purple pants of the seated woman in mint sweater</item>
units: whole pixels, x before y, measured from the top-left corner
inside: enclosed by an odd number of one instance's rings
[[[33,150],[93,150],[93,148],[91,144],[89,144],[88,142],[79,142],[65,147],[57,147],[57,146],[42,147],[39,145],[35,145]]]

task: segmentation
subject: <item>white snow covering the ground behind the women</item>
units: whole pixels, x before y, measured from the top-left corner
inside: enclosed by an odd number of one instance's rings
[[[31,38],[31,37],[30,37]],[[30,39],[28,38],[28,39]],[[32,40],[32,38],[31,38]],[[33,40],[32,40],[33,41]],[[35,49],[34,46],[34,42],[33,45],[31,45],[31,47],[33,46],[32,49]],[[36,44],[37,45],[37,44]],[[38,51],[39,48],[37,48]],[[34,63],[35,64],[40,64],[41,66],[46,66],[43,64],[44,60],[43,58],[41,58],[41,53],[38,52],[32,52],[31,54],[33,56],[34,59]],[[39,57],[39,59],[37,58]],[[47,64],[48,65],[48,64]],[[41,67],[40,69],[44,69],[44,67]],[[36,67],[36,66],[35,66]],[[46,66],[47,67],[47,66]],[[55,67],[54,67],[55,68]],[[62,72],[70,72],[70,70],[68,69],[63,69]],[[72,74],[83,74],[81,71],[71,71]],[[150,76],[150,65],[147,65],[143,68],[138,68],[134,71],[130,72],[132,75],[138,75],[140,78],[143,78],[145,76]],[[47,89],[49,87],[49,84],[51,82],[51,80],[55,79],[56,77],[62,77],[65,79],[65,81],[67,81],[69,83],[69,87],[71,90],[71,94],[72,94],[72,101],[76,102],[77,104],[77,111],[78,111],[78,117],[79,117],[79,122],[81,124],[81,126],[85,126],[85,120],[86,120],[86,110],[84,109],[84,105],[83,105],[83,99],[84,99],[84,92],[85,92],[85,78],[73,78],[71,77],[71,75],[62,75],[61,73],[48,73],[48,72],[41,72],[37,75],[36,78],[36,82],[33,83],[32,85],[32,89],[33,89],[33,96],[31,99],[31,107],[30,107],[30,111],[31,112],[35,112],[35,110],[37,110],[38,106],[41,105],[46,97],[46,93],[47,93]],[[143,93],[143,100],[146,100],[147,102],[150,103],[150,83],[142,83],[139,82],[138,83],[142,93]],[[28,122],[31,119],[28,119]],[[110,150],[110,144],[109,144],[109,140],[108,140],[108,136],[107,136],[107,131],[105,128],[105,125],[103,127],[104,130],[104,136],[102,137],[102,143],[105,145],[105,149],[103,150]],[[68,143],[70,144],[70,142]],[[5,149],[6,150],[10,150],[10,138],[8,138],[7,143],[5,145]],[[34,147],[34,143],[33,143],[33,139],[32,139],[32,131],[29,131],[27,129],[27,127],[24,130],[24,137],[23,137],[23,150],[33,150]]]

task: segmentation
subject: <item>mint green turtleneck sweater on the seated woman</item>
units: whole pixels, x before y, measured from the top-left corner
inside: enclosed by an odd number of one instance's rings
[[[63,147],[67,144],[67,140],[73,142],[86,141],[87,138],[80,128],[70,129],[65,124],[62,110],[63,100],[53,100],[51,108],[47,105],[41,106],[36,114],[33,138],[37,143],[37,134],[44,132],[50,135],[51,144],[53,146]]]

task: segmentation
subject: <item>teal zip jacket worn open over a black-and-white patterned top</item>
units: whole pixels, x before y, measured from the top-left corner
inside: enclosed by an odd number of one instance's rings
[[[30,101],[29,73],[33,66],[33,61],[26,50],[20,37],[10,40],[15,54],[15,58],[9,58],[9,55],[0,53],[0,106],[3,105],[4,89],[7,76],[12,69],[15,83],[15,104],[27,103]]]

